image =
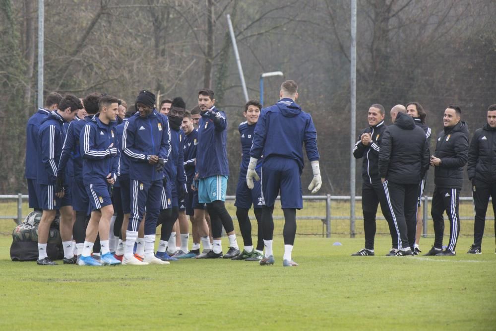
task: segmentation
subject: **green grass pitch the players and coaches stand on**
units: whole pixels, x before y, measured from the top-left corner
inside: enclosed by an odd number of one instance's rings
[[[446,240],[446,239],[445,239]],[[342,246],[333,246],[336,241]],[[425,240],[431,243],[431,239]],[[350,257],[363,239],[298,236],[300,266],[187,260],[171,265],[79,267],[10,262],[0,236],[1,330],[495,330],[496,254]],[[227,242],[224,242],[224,248]],[[427,243],[423,246],[427,250]]]

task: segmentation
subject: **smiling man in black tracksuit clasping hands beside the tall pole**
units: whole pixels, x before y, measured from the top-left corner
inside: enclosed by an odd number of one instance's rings
[[[353,156],[356,159],[364,159],[362,165],[362,211],[364,214],[365,248],[352,254],[352,256],[374,255],[375,214],[379,203],[382,214],[387,220],[393,242],[393,248],[388,255],[394,255],[398,251],[398,235],[394,228],[378,170],[380,142],[382,133],[386,130],[384,107],[380,104],[370,106],[367,121],[370,127],[362,131],[353,147]]]

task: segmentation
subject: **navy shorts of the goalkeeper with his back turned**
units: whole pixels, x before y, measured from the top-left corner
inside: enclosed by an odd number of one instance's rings
[[[281,191],[282,208],[303,208],[302,181],[298,162],[293,159],[271,156],[264,159],[260,170],[262,203],[271,207]]]

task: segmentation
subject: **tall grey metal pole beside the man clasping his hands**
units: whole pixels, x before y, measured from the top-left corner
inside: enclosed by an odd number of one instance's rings
[[[355,187],[356,187],[356,166],[353,156],[355,146],[355,133],[357,131],[357,0],[351,0],[351,49],[350,49],[350,102],[351,102],[351,123],[350,123],[350,238],[355,238]]]

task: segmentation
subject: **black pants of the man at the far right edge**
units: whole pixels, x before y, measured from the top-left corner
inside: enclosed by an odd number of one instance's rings
[[[475,208],[474,245],[481,246],[489,197],[493,198],[493,211],[496,215],[496,183],[488,183],[474,178],[472,180],[472,196],[474,197]]]

